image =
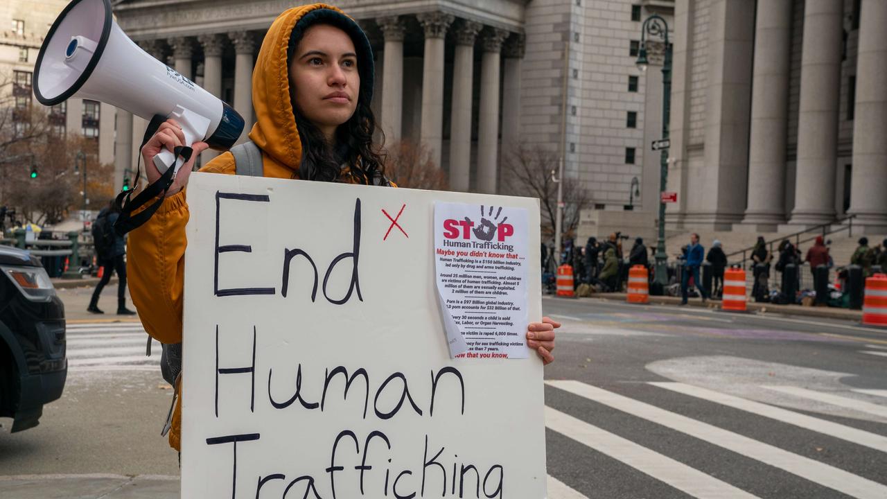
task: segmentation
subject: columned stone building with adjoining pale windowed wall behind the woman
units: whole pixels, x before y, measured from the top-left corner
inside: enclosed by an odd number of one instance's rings
[[[248,130],[255,55],[271,21],[292,5],[125,0],[114,12],[145,51],[232,104]],[[373,44],[373,111],[386,142],[424,144],[451,189],[502,192],[503,162],[518,145],[539,145],[563,152],[567,176],[598,209],[624,210],[631,200],[655,210],[658,155],[644,154],[643,144],[661,130],[661,73],[640,73],[635,59],[640,21],[650,12],[671,19],[673,0],[337,5]],[[146,123],[120,116],[117,149],[133,151],[117,158],[122,169],[135,164]],[[640,196],[631,194],[633,178]]]

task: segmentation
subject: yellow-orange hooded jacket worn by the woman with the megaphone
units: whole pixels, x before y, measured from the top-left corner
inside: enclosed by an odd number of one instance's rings
[[[279,15],[265,35],[253,71],[253,107],[256,123],[249,139],[262,149],[264,177],[299,178],[302,142],[290,103],[287,46],[295,24],[308,12],[339,9],[326,4],[294,7]],[[343,13],[343,12],[341,12]],[[372,61],[371,61],[372,63]],[[234,156],[216,156],[200,169],[233,175]],[[184,226],[188,223],[184,189],[169,196],[145,225],[130,233],[127,258],[130,263],[130,295],[145,330],[161,343],[182,341],[182,296],[184,292]],[[172,416],[169,446],[180,449],[180,396]]]

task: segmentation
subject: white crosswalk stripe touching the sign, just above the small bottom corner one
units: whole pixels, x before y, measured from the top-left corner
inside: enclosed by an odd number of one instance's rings
[[[755,497],[703,471],[679,463],[671,457],[601,430],[593,424],[585,423],[556,409],[546,407],[546,426],[554,432],[585,444],[694,497],[700,499]]]

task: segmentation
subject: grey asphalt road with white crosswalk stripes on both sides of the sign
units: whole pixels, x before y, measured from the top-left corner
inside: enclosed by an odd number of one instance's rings
[[[66,300],[80,307],[83,293]],[[546,368],[549,498],[887,497],[887,332],[591,299],[543,307],[563,321]],[[171,390],[145,339],[137,323],[70,325],[65,393],[37,428],[0,430],[0,475],[177,475],[159,434]]]

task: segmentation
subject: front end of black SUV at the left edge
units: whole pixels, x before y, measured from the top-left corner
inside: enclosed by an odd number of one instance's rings
[[[65,305],[40,260],[0,246],[0,417],[33,428],[67,377]]]

